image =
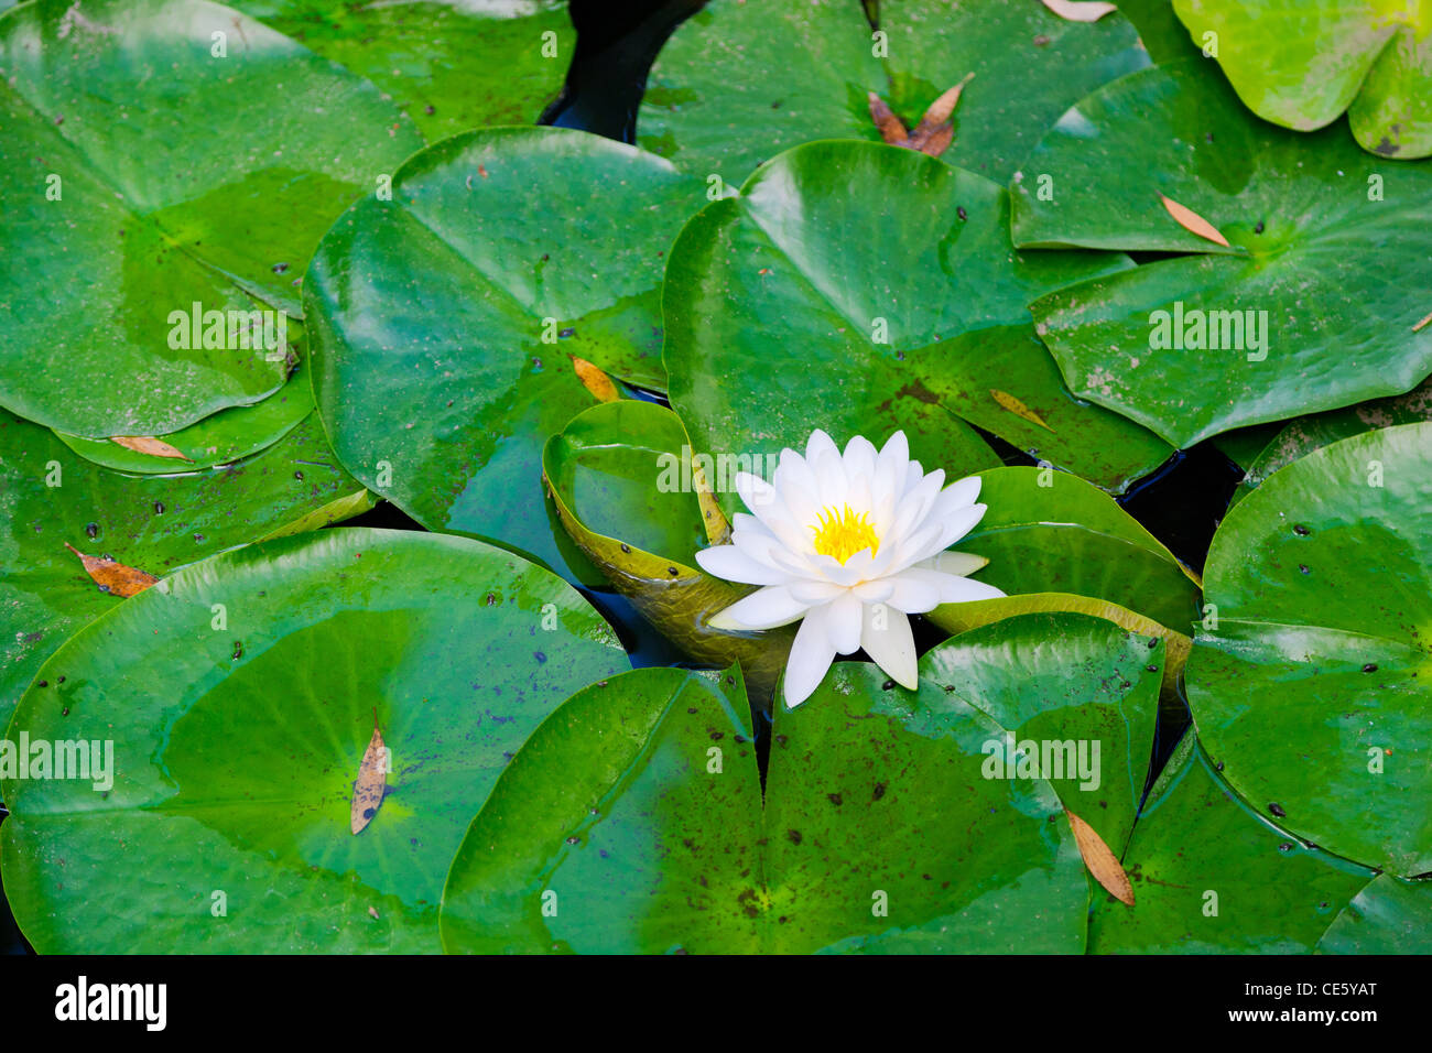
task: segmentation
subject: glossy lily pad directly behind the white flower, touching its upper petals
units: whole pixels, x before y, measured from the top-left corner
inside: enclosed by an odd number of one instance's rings
[[[998,463],[964,421],[1108,489],[1171,451],[1075,401],[1034,337],[1041,291],[1130,266],[1108,254],[1011,254],[1008,196],[875,143],[811,143],[682,231],[666,271],[666,368],[692,446],[800,448],[816,428],[958,477]],[[725,496],[727,510],[735,510]]]

